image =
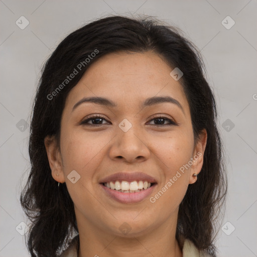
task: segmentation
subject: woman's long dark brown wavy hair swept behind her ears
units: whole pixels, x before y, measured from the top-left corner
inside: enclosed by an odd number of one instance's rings
[[[174,27],[152,17],[109,16],[90,22],[68,35],[46,61],[37,88],[31,120],[29,155],[31,171],[21,194],[22,207],[32,221],[26,244],[31,256],[58,256],[78,232],[74,205],[66,184],[57,186],[44,145],[47,136],[59,140],[60,121],[69,91],[87,68],[102,56],[118,52],[154,51],[171,68],[183,72],[180,83],[190,106],[194,137],[207,131],[203,167],[179,207],[176,238],[190,239],[198,249],[216,256],[213,243],[216,218],[224,203],[227,178],[223,150],[216,126],[214,95],[205,79],[205,68],[197,48]],[[85,61],[93,52],[90,61]],[[78,74],[61,85],[74,68]],[[80,66],[79,66],[80,67]],[[67,81],[66,81],[67,82]],[[53,94],[53,92],[56,92]],[[50,99],[51,98],[51,99]]]

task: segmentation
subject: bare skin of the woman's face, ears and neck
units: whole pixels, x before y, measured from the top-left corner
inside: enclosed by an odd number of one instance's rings
[[[54,138],[45,139],[52,176],[66,183],[74,202],[79,257],[126,257],[132,252],[135,257],[183,256],[175,238],[178,208],[188,185],[197,180],[193,174],[201,171],[207,135],[204,130],[194,142],[188,101],[179,80],[170,76],[172,70],[153,52],[101,57],[66,99],[60,149]],[[167,102],[140,108],[148,97],[167,95],[179,101],[183,110]],[[88,96],[106,97],[117,107],[87,102],[72,111],[74,104]],[[80,125],[90,114],[105,119],[101,125]],[[155,114],[165,115],[179,125],[154,125]],[[132,124],[127,132],[118,126],[124,118]],[[97,124],[89,121],[93,122]],[[150,197],[135,204],[119,203],[100,188],[99,180],[108,175],[141,171],[157,179],[150,195],[154,196],[197,153],[202,156],[155,203],[150,202]],[[67,178],[72,170],[80,175],[75,184]],[[131,227],[127,234],[119,230],[123,222]]]

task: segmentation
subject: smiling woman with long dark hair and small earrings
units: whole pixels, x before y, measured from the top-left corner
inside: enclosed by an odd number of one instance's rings
[[[110,16],[68,35],[42,73],[29,154],[31,256],[216,256],[215,99],[178,29]]]

